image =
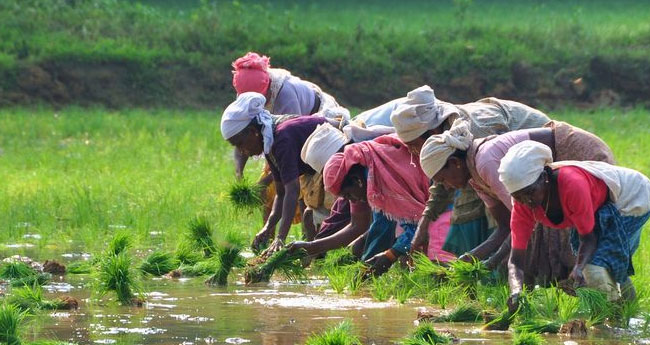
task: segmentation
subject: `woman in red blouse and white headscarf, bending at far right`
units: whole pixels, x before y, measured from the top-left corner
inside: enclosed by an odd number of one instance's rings
[[[512,195],[512,250],[508,262],[511,309],[521,293],[528,240],[536,222],[573,227],[577,260],[570,278],[616,299],[635,297],[629,276],[641,228],[650,217],[650,180],[638,171],[604,162],[553,163],[551,149],[526,140],[501,160],[499,179]],[[577,235],[577,236],[576,236]],[[577,237],[577,238],[576,238]]]

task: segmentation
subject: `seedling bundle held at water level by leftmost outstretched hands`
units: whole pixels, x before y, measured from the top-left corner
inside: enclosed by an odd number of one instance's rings
[[[280,271],[289,280],[299,280],[304,277],[305,269],[300,259],[307,256],[306,250],[299,250],[293,253],[281,249],[273,253],[263,263],[256,266],[249,266],[244,271],[244,281],[248,284],[268,282],[275,271]]]

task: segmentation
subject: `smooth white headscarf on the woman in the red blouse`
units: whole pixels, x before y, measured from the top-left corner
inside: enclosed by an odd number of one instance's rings
[[[501,159],[499,180],[512,194],[533,184],[553,162],[553,152],[541,143],[524,140],[513,145]]]

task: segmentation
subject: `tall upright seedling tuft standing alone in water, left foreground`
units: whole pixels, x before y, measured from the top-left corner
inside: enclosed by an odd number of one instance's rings
[[[131,258],[126,252],[103,258],[99,264],[97,281],[100,295],[113,291],[122,305],[137,302],[139,282],[136,273],[131,269]]]

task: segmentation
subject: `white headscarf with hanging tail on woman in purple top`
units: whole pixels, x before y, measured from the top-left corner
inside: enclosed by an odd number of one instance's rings
[[[273,120],[264,109],[266,98],[257,92],[244,92],[230,103],[221,116],[221,135],[228,140],[246,128],[255,120],[262,125],[264,153],[271,152],[273,145]]]

